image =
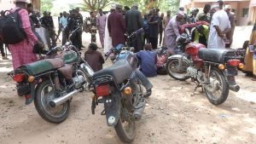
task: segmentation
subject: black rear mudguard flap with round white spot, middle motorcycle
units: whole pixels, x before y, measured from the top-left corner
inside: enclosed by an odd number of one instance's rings
[[[107,96],[104,98],[104,107],[108,126],[115,126],[120,116],[120,96]]]

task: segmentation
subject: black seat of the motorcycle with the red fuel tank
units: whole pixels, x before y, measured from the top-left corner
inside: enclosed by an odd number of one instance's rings
[[[231,49],[200,49],[198,52],[200,59],[217,63],[225,63],[234,56],[236,53]]]

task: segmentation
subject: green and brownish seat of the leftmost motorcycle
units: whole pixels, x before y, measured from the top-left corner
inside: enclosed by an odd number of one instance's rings
[[[40,73],[49,72],[64,66],[64,60],[61,58],[38,60],[24,66],[20,69],[27,69],[30,75],[36,76]]]

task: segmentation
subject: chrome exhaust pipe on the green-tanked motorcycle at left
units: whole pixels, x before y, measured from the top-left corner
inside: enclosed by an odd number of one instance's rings
[[[60,106],[66,101],[68,101],[73,95],[79,93],[80,89],[75,89],[73,92],[68,93],[67,95],[63,95],[61,97],[55,98],[53,101],[49,101],[49,106],[50,107],[56,107]]]

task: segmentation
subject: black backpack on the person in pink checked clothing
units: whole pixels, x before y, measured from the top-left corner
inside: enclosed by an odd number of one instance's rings
[[[20,15],[18,12],[20,9],[16,9],[14,13],[6,10],[0,17],[0,37],[3,39],[5,44],[15,44],[20,43],[26,38],[26,33],[24,32]],[[6,14],[9,12],[9,14]]]

